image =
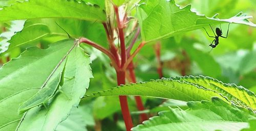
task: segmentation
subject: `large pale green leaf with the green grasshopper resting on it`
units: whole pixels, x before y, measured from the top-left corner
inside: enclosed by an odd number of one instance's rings
[[[65,95],[56,93],[56,96],[50,100],[52,104],[48,108],[50,110],[47,114],[48,117],[51,117],[51,114],[58,110],[59,117],[51,119],[51,126],[55,128],[63,118],[68,116],[71,108],[77,106],[80,97],[84,95],[88,87],[89,78],[92,76],[89,66],[90,58],[84,55],[80,47],[74,45],[74,40],[59,41],[45,50],[35,47],[28,48],[18,58],[12,59],[0,69],[0,115],[3,116],[0,121],[0,130],[14,130],[16,128],[23,116],[18,115],[19,104],[36,94],[41,87],[45,86],[45,83],[57,77],[57,74],[63,69],[63,61],[67,57],[65,72],[67,79],[61,87]],[[79,75],[79,77],[74,74]],[[70,79],[73,76],[75,77]],[[81,79],[82,83],[78,84],[77,82]],[[56,104],[61,102],[65,103],[65,106],[56,107]],[[59,112],[60,107],[61,112]],[[65,107],[65,110],[62,107]],[[33,111],[37,109],[40,109],[40,107],[32,108]],[[22,125],[30,119],[29,113],[33,111],[30,110],[26,113],[28,116],[26,115],[21,123]],[[45,111],[46,109],[42,108],[37,114],[39,115]],[[34,117],[36,116],[34,115]],[[32,125],[32,123],[30,124]]]

